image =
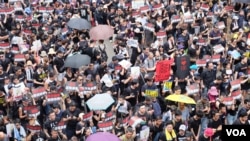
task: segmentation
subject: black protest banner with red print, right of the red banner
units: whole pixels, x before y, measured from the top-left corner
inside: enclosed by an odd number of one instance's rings
[[[176,75],[179,79],[185,79],[189,75],[190,57],[180,56],[176,58],[177,71]]]

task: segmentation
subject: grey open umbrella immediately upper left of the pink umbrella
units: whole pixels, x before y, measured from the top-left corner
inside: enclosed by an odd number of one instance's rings
[[[72,18],[72,19],[69,20],[67,25],[70,28],[77,29],[77,30],[83,30],[83,29],[90,29],[91,28],[91,24],[87,20],[81,19],[81,18]]]

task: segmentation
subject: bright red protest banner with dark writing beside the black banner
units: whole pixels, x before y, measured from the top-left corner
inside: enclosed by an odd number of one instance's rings
[[[156,64],[155,82],[168,80],[171,64],[169,60],[158,61]]]

